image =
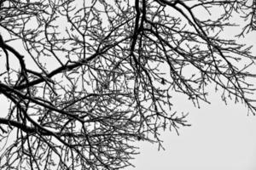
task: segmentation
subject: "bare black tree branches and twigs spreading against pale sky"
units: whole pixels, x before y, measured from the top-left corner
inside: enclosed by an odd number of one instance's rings
[[[256,113],[255,0],[0,0],[0,169],[119,169],[207,85]],[[238,21],[240,20],[240,21]],[[227,37],[226,29],[236,37]],[[1,105],[4,102],[1,103]]]

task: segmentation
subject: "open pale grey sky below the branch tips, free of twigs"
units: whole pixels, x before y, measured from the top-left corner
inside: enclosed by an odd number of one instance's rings
[[[182,96],[175,107],[189,111],[192,127],[182,127],[180,136],[165,132],[166,150],[157,144],[140,143],[141,154],[125,170],[255,170],[256,116],[247,116],[244,105],[225,105],[219,94],[212,93],[212,105],[196,109]]]

